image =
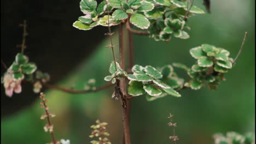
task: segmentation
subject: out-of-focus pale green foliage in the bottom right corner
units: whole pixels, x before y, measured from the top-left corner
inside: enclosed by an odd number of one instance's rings
[[[255,143],[255,135],[253,133],[246,133],[241,135],[234,131],[230,131],[223,135],[217,133],[213,135],[215,144],[253,144]]]

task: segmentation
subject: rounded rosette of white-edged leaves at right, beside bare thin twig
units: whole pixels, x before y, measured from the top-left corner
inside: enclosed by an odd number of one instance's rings
[[[190,55],[197,59],[197,62],[187,70],[191,80],[184,86],[195,90],[203,86],[216,89],[220,81],[225,80],[224,73],[232,68],[233,60],[229,54],[229,51],[209,44],[191,49]]]

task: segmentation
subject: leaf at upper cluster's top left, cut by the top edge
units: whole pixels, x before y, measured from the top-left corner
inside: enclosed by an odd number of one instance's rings
[[[90,14],[92,11],[96,10],[97,1],[94,0],[82,0],[80,2],[80,9],[84,14]]]

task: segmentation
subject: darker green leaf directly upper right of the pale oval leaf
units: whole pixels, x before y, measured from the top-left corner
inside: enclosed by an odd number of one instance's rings
[[[165,13],[166,8],[165,7],[155,7],[151,11],[144,12],[144,15],[148,17],[148,19],[159,19],[161,18]]]

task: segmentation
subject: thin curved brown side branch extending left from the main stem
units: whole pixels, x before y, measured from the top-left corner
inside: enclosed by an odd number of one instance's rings
[[[75,89],[70,89],[70,88],[66,88],[66,87],[60,87],[60,86],[55,86],[55,85],[51,85],[49,83],[43,83],[43,86],[46,88],[51,88],[51,89],[57,89],[63,92],[67,92],[67,93],[74,93],[74,94],[79,94],[79,93],[90,93],[90,92],[97,92],[97,91],[101,91],[103,89],[107,89],[109,87],[112,87],[113,84],[112,83],[108,83],[107,85],[101,86],[101,87],[97,87],[94,90],[75,90]]]

